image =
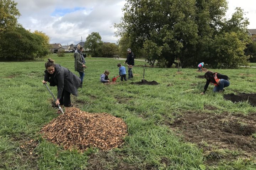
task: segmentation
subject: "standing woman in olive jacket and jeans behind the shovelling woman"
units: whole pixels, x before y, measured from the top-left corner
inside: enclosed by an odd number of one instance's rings
[[[78,44],[77,48],[78,49],[74,53],[75,71],[77,71],[80,75],[81,84],[79,87],[82,87],[83,80],[84,80],[84,69],[87,67],[85,66],[85,59],[82,53],[83,47]]]

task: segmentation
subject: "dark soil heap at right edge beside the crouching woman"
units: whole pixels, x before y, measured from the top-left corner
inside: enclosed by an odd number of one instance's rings
[[[256,94],[242,93],[239,95],[235,95],[232,93],[232,94],[224,95],[224,99],[231,100],[233,103],[244,102],[248,100],[252,106],[256,106]]]

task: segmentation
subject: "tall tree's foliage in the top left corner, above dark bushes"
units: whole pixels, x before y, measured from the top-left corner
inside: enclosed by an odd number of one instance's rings
[[[0,0],[0,37],[6,30],[17,26],[17,17],[20,12],[16,8],[17,3],[12,0]]]

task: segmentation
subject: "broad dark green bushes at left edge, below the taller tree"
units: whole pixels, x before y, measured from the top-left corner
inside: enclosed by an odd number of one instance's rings
[[[0,37],[0,61],[23,61],[42,58],[49,53],[49,37],[16,27]]]

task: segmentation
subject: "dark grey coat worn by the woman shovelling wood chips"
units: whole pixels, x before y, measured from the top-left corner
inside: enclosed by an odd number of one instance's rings
[[[81,79],[70,72],[69,69],[62,67],[59,64],[55,64],[55,71],[53,74],[48,73],[47,70],[45,70],[44,73],[44,81],[48,81],[50,86],[57,85],[57,98],[62,97],[63,89],[78,96],[78,87],[81,83]]]

